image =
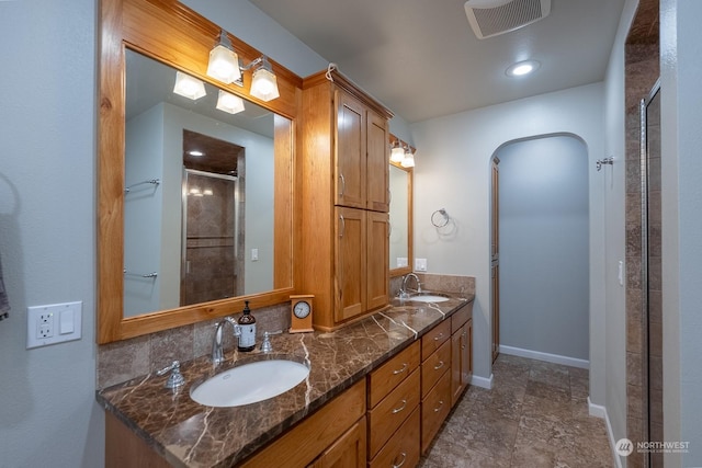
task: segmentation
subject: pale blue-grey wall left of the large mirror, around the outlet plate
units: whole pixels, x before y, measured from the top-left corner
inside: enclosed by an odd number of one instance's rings
[[[99,467],[94,0],[0,2],[0,467]],[[82,300],[82,339],[26,350],[26,307]]]

